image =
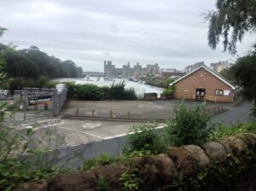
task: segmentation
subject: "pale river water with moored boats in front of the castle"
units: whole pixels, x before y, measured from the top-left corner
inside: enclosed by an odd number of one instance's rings
[[[147,85],[139,82],[132,82],[126,78],[119,79],[114,78],[113,80],[107,80],[104,78],[90,77],[90,79],[84,78],[57,78],[54,81],[63,82],[74,82],[75,84],[96,84],[97,86],[111,86],[113,83],[125,82],[125,89],[133,88],[138,96],[142,96],[144,93],[157,93],[160,97],[160,93],[163,92],[163,88],[154,87],[152,85]]]

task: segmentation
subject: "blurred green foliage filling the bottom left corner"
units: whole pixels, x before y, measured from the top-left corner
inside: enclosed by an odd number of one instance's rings
[[[13,128],[0,126],[0,190],[14,190],[20,182],[32,182],[40,179],[49,179],[59,175],[61,169],[56,169],[44,159],[44,152],[28,148],[34,131],[26,130],[22,136]],[[21,154],[30,153],[34,159],[26,161]]]

